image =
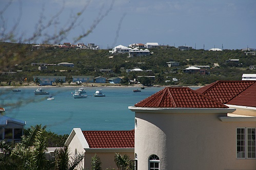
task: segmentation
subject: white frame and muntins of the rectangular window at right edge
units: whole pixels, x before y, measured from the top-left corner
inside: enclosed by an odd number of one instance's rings
[[[238,130],[240,129],[240,133]],[[241,130],[244,130],[244,133],[241,133]],[[250,130],[250,133],[249,133]],[[253,130],[253,131],[252,131]],[[256,159],[256,141],[255,141],[255,127],[238,127],[236,128],[236,159]],[[254,134],[254,136],[253,136]],[[240,138],[239,138],[240,135]],[[243,137],[241,137],[243,135]],[[250,136],[251,135],[251,136]],[[242,142],[244,141],[244,143]],[[238,145],[240,143],[240,145]],[[241,144],[242,143],[242,144]],[[240,147],[240,151],[238,151]],[[241,151],[241,148],[244,147],[244,151]],[[250,149],[249,149],[250,147]],[[244,155],[238,157],[239,152],[244,153]],[[250,154],[250,155],[249,155]],[[252,154],[254,154],[252,157]]]

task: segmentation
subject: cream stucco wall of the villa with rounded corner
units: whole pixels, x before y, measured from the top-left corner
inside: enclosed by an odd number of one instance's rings
[[[135,112],[138,169],[160,158],[160,169],[255,169],[256,159],[236,158],[236,128],[255,122],[221,122],[221,113]]]

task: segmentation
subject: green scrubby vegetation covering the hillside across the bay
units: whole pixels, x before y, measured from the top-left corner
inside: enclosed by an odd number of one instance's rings
[[[137,76],[155,76],[155,81],[144,84],[157,85],[205,85],[217,80],[242,80],[243,74],[256,74],[256,70],[249,70],[250,65],[256,65],[256,56],[246,56],[241,50],[205,51],[190,50],[178,51],[173,46],[160,46],[149,49],[150,56],[128,58],[128,54],[110,54],[109,50],[83,50],[63,49],[53,46],[33,49],[32,44],[0,43],[0,76],[1,85],[6,85],[9,80],[16,84],[23,84],[24,79],[33,81],[32,76],[50,75],[66,76],[66,81],[72,76],[94,77],[122,77],[124,84],[128,80],[143,82]],[[110,56],[113,56],[110,58]],[[239,64],[227,64],[228,59],[239,59]],[[180,62],[178,67],[168,67],[166,62]],[[73,63],[74,67],[47,66],[46,70],[38,70],[31,63],[58,64],[61,62]],[[214,67],[214,63],[219,66]],[[209,74],[185,74],[183,69],[190,65],[209,65]],[[129,72],[126,69],[141,68],[140,71]],[[112,69],[113,73],[101,72],[100,69]],[[10,72],[15,72],[11,74]],[[167,78],[168,77],[168,78]],[[178,82],[168,82],[178,78]]]

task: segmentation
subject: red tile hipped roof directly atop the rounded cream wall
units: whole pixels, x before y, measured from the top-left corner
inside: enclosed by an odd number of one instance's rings
[[[150,108],[228,108],[188,87],[166,87],[135,104]]]

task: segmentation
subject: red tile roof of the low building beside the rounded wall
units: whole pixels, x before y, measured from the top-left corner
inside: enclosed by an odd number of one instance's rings
[[[82,132],[90,148],[134,148],[134,130]]]

